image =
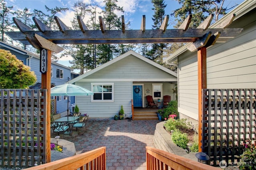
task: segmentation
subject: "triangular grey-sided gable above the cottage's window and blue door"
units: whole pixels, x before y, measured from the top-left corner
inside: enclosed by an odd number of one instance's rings
[[[89,75],[86,79],[149,79],[176,78],[165,71],[142,61],[134,55],[129,55],[108,67]]]

